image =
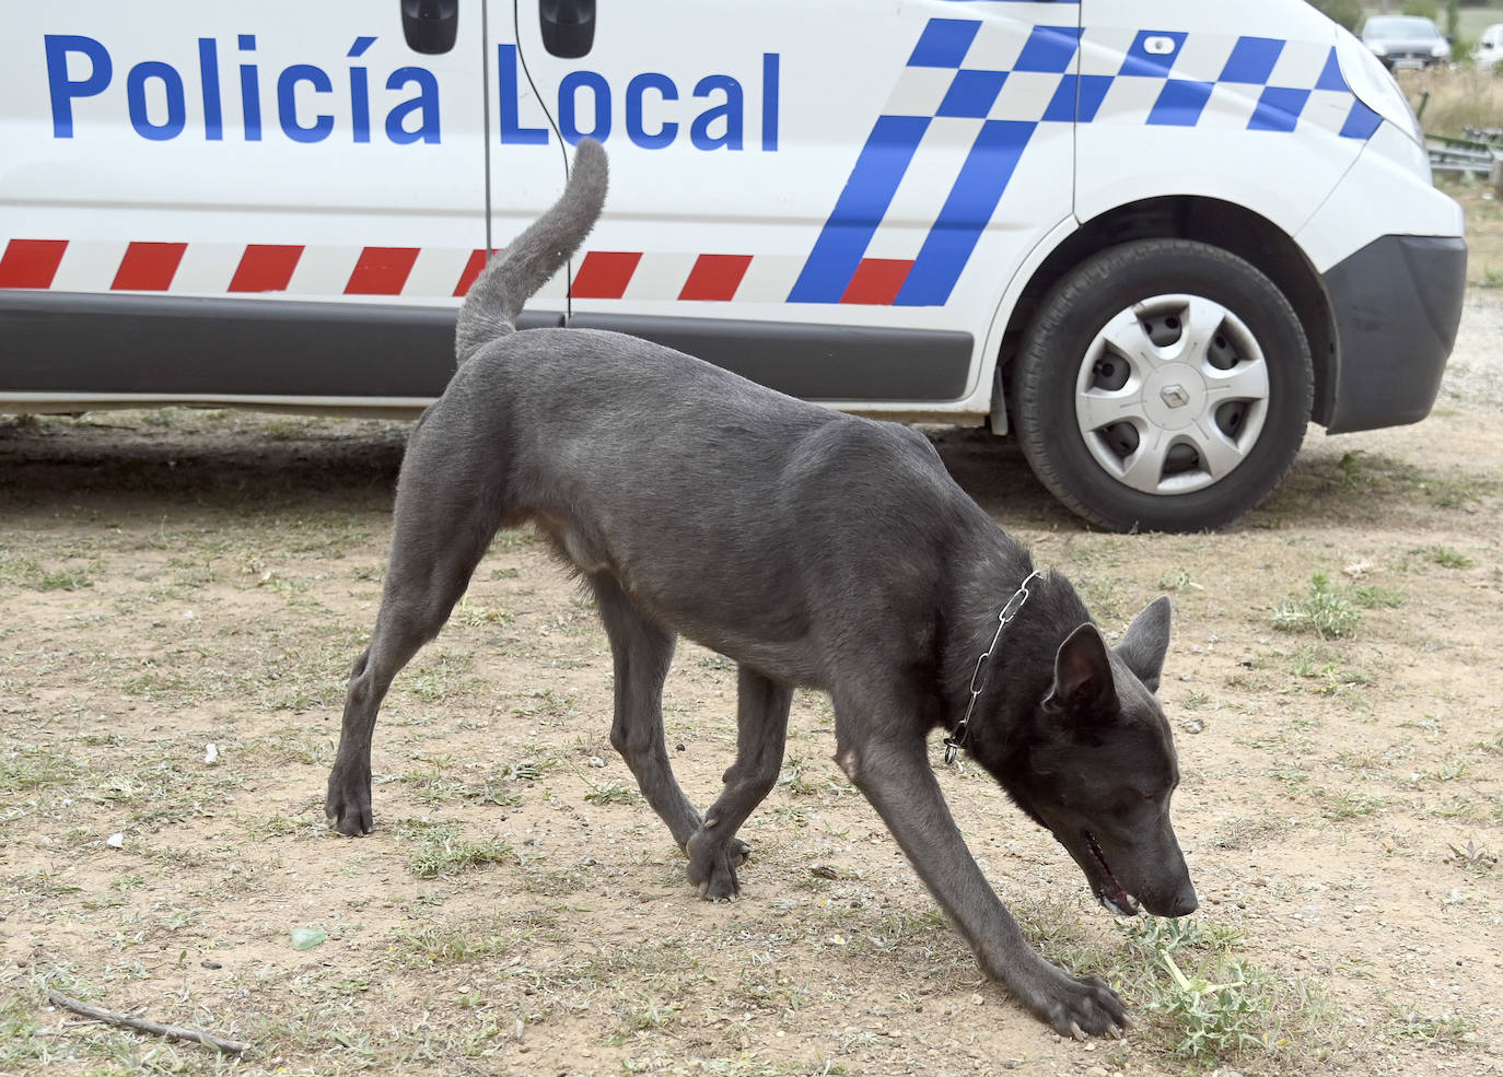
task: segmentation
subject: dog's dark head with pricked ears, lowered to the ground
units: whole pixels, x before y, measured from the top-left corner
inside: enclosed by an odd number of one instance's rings
[[[1096,625],[1060,644],[1054,683],[1003,784],[1049,828],[1111,912],[1195,910],[1195,888],[1169,826],[1180,781],[1169,723],[1154,692],[1169,646],[1169,599],[1151,602],[1114,649]]]

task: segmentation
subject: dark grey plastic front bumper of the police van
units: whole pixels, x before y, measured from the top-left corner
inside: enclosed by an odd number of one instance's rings
[[[1326,433],[1419,422],[1435,404],[1467,291],[1458,236],[1381,236],[1324,275],[1336,370]]]

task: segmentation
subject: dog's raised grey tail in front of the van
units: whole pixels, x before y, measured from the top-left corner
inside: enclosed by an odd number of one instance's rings
[[[461,364],[487,341],[513,332],[522,305],[585,242],[606,203],[606,149],[594,138],[580,140],[564,194],[490,260],[464,296],[454,330],[454,354]]]

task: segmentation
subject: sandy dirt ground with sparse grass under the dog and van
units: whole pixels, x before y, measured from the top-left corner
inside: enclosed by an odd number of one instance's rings
[[[700,901],[607,742],[592,610],[526,532],[398,677],[376,832],[332,835],[406,427],[0,425],[0,1072],[1498,1072],[1500,332],[1503,294],[1474,290],[1431,419],[1312,430],[1219,535],[1093,533],[1016,451],[938,434],[1105,628],[1174,598],[1193,918],[1114,921],[989,778],[941,775],[1030,936],[1123,993],[1123,1042],[1061,1041],[981,981],[834,766],[822,697],[742,832],[742,898]],[[681,647],[669,745],[700,804],[733,697],[727,661]],[[87,1023],[50,988],[251,1048]]]

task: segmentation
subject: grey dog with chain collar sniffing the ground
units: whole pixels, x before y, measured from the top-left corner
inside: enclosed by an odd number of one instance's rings
[[[1063,1035],[1120,1035],[1096,976],[1036,954],[971,858],[927,757],[950,735],[1046,826],[1120,915],[1195,909],[1169,826],[1178,766],[1153,692],[1157,599],[1112,650],[1075,589],[950,479],[905,427],[792,400],[610,332],[514,332],[585,240],[606,153],[464,299],[458,370],[413,431],[391,566],[344,704],[328,814],[371,829],[371,732],[395,673],[439,634],[499,527],[534,521],[595,595],[615,655],[610,741],[708,898],[738,892],[736,831],[777,781],[795,685],[834,701],[836,760],[981,967]],[[998,613],[1001,611],[1001,614]],[[703,816],[663,742],[678,634],[738,664],[738,739]]]

